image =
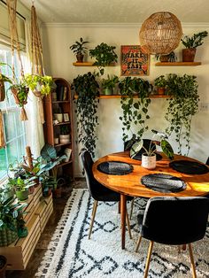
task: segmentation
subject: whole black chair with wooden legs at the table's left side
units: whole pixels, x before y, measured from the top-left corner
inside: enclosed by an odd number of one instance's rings
[[[86,176],[86,181],[87,181],[87,186],[89,189],[89,194],[91,197],[94,198],[94,205],[93,205],[93,210],[92,210],[92,215],[91,215],[91,221],[90,221],[90,228],[89,228],[89,239],[92,233],[92,228],[95,220],[95,215],[97,212],[97,204],[98,201],[102,202],[120,202],[120,194],[111,190],[107,189],[99,183],[93,175],[92,172],[92,166],[94,164],[91,155],[89,151],[83,151],[81,153],[81,161],[82,165],[84,168],[85,176]],[[127,197],[127,200],[132,200],[133,197]],[[129,224],[129,219],[128,219],[128,212],[126,212],[126,222],[128,225],[128,233],[130,238],[131,236],[131,230],[130,230],[130,224]]]

